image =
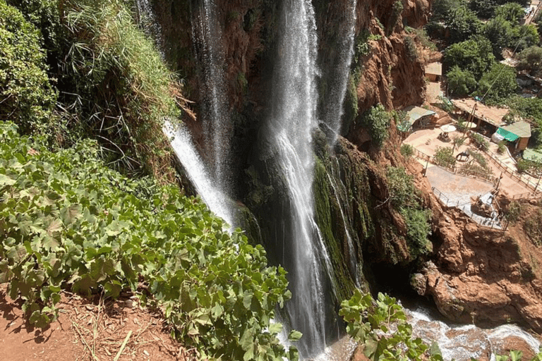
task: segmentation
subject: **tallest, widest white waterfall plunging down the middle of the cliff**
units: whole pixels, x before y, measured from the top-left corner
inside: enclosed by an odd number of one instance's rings
[[[286,309],[290,326],[303,333],[301,357],[321,353],[326,342],[325,284],[330,259],[314,220],[313,129],[316,106],[317,36],[310,0],[288,0],[282,8],[282,35],[273,73],[272,115],[267,137],[277,154],[289,194],[292,298]]]

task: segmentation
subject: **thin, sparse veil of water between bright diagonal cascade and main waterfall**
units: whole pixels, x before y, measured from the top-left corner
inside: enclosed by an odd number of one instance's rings
[[[210,176],[222,192],[231,189],[231,124],[224,84],[224,49],[218,9],[213,0],[200,1],[192,21],[195,52],[203,66],[200,94],[203,98],[200,121],[203,123],[205,154]]]

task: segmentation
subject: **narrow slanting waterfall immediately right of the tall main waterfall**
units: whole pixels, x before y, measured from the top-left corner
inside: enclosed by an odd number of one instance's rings
[[[354,56],[354,37],[356,35],[356,0],[346,0],[347,11],[344,13],[344,22],[339,28],[339,46],[335,59],[335,66],[330,70],[329,94],[326,95],[325,106],[323,109],[323,119],[327,126],[332,130],[332,135],[328,137],[330,145],[337,142],[337,137],[342,132],[342,116],[344,114],[344,97],[347,94],[349,83],[350,65]]]

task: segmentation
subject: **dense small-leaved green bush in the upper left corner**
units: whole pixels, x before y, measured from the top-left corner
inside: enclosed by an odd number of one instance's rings
[[[0,0],[0,120],[24,133],[50,133],[56,94],[47,76],[40,34],[16,8]]]

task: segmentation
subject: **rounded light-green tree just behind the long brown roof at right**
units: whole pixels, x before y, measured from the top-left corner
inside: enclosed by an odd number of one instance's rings
[[[515,69],[502,63],[494,63],[478,82],[476,94],[499,102],[513,94],[516,88]]]

